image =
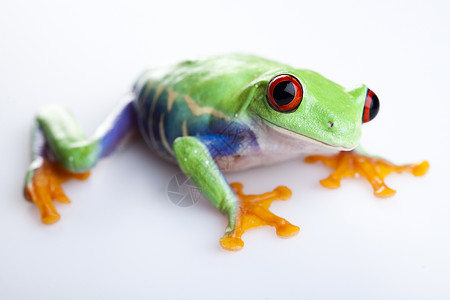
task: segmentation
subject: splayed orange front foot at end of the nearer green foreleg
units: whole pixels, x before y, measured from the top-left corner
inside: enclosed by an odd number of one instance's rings
[[[291,237],[297,234],[299,227],[292,225],[269,211],[273,200],[287,200],[291,191],[285,186],[279,186],[272,192],[261,195],[245,195],[241,183],[231,183],[231,188],[239,197],[240,210],[236,213],[234,230],[220,239],[220,245],[226,250],[240,250],[244,246],[242,234],[250,228],[270,225],[276,228],[280,237]]]

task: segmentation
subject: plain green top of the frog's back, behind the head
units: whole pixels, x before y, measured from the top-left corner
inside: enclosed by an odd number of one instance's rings
[[[202,105],[212,106],[232,116],[242,89],[262,73],[280,64],[249,54],[228,54],[188,60],[165,68],[150,69],[137,80],[136,90],[146,84],[172,88]]]

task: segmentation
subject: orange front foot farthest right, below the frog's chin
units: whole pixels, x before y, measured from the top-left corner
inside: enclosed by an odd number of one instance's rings
[[[387,160],[358,154],[355,151],[339,152],[335,155],[311,155],[305,158],[305,162],[314,163],[321,161],[325,165],[335,169],[331,175],[320,181],[327,188],[338,188],[343,177],[364,176],[372,185],[375,196],[386,198],[393,196],[395,190],[384,183],[384,178],[392,172],[408,172],[414,176],[422,176],[428,171],[429,164],[423,161],[420,164],[397,166]]]

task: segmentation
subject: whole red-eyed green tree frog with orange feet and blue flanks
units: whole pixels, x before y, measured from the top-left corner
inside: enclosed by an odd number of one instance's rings
[[[33,127],[25,198],[37,205],[41,221],[60,219],[53,201],[69,203],[62,183],[86,179],[101,159],[130,136],[141,137],[162,159],[177,164],[203,196],[228,221],[220,245],[244,246],[250,228],[269,225],[280,237],[299,227],[269,210],[287,200],[285,186],[247,195],[226,172],[306,156],[334,169],[320,181],[340,186],[344,177],[362,175],[377,197],[395,190],[384,178],[391,172],[424,175],[429,164],[396,165],[359,145],[363,124],[378,114],[378,96],[366,85],[344,88],[307,69],[250,54],[225,54],[186,60],[144,71],[121,104],[91,137],[58,105],[40,110]]]

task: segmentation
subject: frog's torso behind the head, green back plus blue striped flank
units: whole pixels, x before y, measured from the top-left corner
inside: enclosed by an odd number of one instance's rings
[[[134,93],[140,129],[147,143],[173,157],[179,136],[211,136],[225,129],[251,135],[234,119],[243,89],[280,64],[246,54],[184,61],[151,69],[137,80]]]

